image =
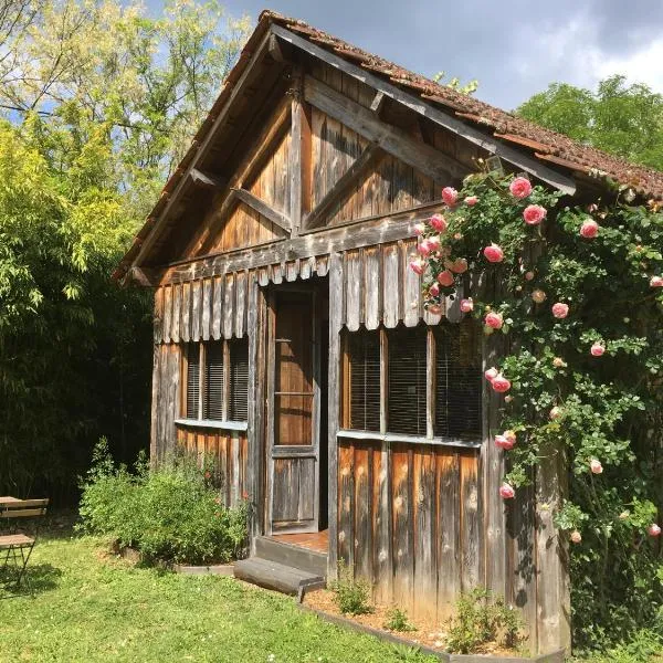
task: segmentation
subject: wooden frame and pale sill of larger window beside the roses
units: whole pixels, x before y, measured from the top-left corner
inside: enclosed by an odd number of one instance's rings
[[[420,323],[420,326],[423,326]],[[457,326],[454,324],[454,326]],[[418,327],[406,327],[414,332]],[[396,328],[394,328],[396,329]],[[361,333],[366,329],[361,328]],[[484,410],[485,410],[485,386],[482,383],[480,388],[480,401],[481,401],[481,432],[476,440],[463,440],[455,438],[446,438],[434,434],[435,427],[435,391],[436,391],[436,339],[435,339],[435,327],[425,325],[425,434],[409,434],[409,433],[396,433],[388,429],[388,410],[389,410],[389,332],[383,325],[380,325],[377,329],[368,330],[379,335],[380,344],[380,430],[379,431],[366,431],[349,428],[350,421],[350,354],[349,343],[352,334],[357,332],[349,332],[347,328],[343,329],[341,333],[341,403],[340,403],[340,421],[337,435],[339,438],[354,439],[354,440],[381,440],[383,442],[406,442],[406,443],[423,443],[443,446],[462,446],[477,449],[482,445],[483,439],[485,438],[485,423],[484,423]],[[459,327],[460,333],[460,327]],[[478,347],[480,365],[483,373],[484,366],[484,343],[480,343]]]

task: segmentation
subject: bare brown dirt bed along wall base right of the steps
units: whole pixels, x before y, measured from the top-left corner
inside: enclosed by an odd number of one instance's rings
[[[370,627],[371,629],[385,631],[385,633],[392,633],[394,635],[398,635],[399,638],[409,640],[410,642],[412,642],[413,645],[429,646],[433,650],[439,650],[441,652],[448,651],[448,622],[440,622],[432,618],[425,619],[410,617],[408,614],[408,622],[414,628],[413,631],[390,631],[389,629],[385,628],[385,622],[388,620],[387,613],[391,608],[393,608],[393,606],[373,603],[373,612],[371,612],[370,614],[343,614],[338,609],[334,597],[335,594],[333,591],[328,589],[319,589],[316,591],[307,592],[304,597],[304,604],[315,610],[327,612],[328,614],[344,617],[345,619],[349,619],[365,627]],[[505,649],[495,642],[491,642],[481,648],[477,648],[477,650],[472,653],[493,656],[522,655],[520,653],[515,652],[514,650]]]

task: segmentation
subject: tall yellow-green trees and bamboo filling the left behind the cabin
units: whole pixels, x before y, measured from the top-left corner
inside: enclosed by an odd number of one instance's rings
[[[0,493],[65,496],[101,435],[123,460],[146,445],[151,297],[109,275],[248,21],[6,0],[0,23]]]

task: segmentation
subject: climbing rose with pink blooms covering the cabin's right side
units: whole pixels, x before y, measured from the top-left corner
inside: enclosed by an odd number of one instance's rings
[[[501,394],[505,504],[517,508],[544,457],[568,467],[549,507],[572,544],[587,646],[651,623],[663,603],[663,213],[606,190],[568,207],[526,177],[471,175],[414,228],[411,263],[429,309],[462,293],[461,313],[502,349],[485,379]]]

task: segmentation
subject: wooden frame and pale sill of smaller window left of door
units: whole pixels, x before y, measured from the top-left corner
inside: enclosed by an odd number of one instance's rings
[[[249,343],[249,338],[243,336],[241,338],[228,339],[223,338],[220,340],[206,340],[206,341],[190,341],[183,345],[181,352],[181,372],[180,372],[180,401],[179,401],[179,418],[175,420],[175,423],[179,425],[190,425],[196,428],[211,428],[211,429],[223,429],[223,430],[235,430],[245,431],[249,428],[249,412],[246,412],[246,420],[232,420],[229,419],[231,412],[231,344],[244,341]],[[223,361],[223,392],[221,400],[221,419],[204,419],[204,406],[206,398],[208,396],[207,389],[207,373],[208,373],[208,351],[210,344],[221,344],[222,347],[222,361]],[[189,356],[194,350],[199,352],[199,383],[198,383],[198,417],[188,417],[187,411],[187,397],[188,397],[188,370],[189,370]],[[250,352],[248,352],[250,355]],[[246,397],[249,394],[249,376],[246,376]]]

